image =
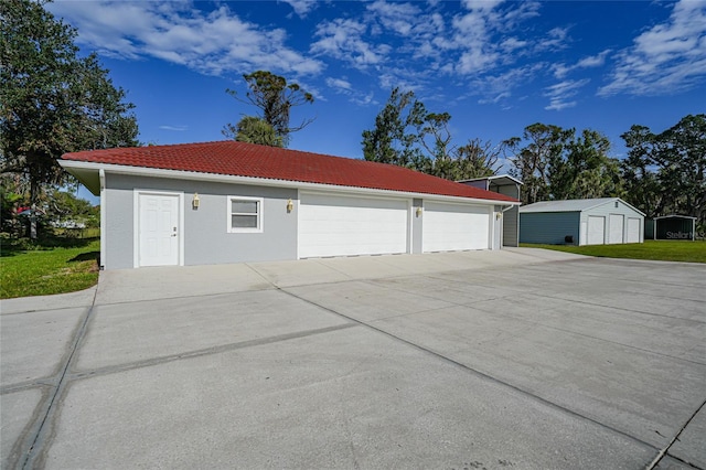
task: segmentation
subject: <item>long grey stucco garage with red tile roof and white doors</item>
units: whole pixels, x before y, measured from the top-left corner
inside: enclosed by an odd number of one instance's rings
[[[500,249],[511,196],[402,167],[223,141],[67,153],[106,269]]]

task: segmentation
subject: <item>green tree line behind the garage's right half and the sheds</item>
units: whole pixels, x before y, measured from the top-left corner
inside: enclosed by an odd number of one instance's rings
[[[393,88],[373,128],[362,133],[368,161],[392,163],[453,181],[496,174],[500,158],[521,180],[523,204],[622,197],[648,217],[682,214],[706,224],[706,115],[688,115],[655,133],[632,126],[628,154],[611,157],[598,130],[532,124],[499,145],[471,138],[454,146],[449,113],[430,113],[414,92]]]

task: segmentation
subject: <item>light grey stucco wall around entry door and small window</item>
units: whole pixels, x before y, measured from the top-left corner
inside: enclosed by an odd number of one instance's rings
[[[106,174],[106,269],[133,267],[135,190],[183,192],[184,265],[297,258],[297,215],[287,201],[297,190]],[[192,207],[199,193],[201,204]],[[227,232],[227,196],[263,197],[263,233]]]

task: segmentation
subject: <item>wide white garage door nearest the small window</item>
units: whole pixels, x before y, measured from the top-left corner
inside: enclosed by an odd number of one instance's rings
[[[301,194],[299,257],[407,253],[405,200]]]

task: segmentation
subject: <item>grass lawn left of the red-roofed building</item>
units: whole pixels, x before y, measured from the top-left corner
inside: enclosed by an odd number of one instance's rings
[[[3,246],[0,299],[74,292],[94,286],[98,281],[100,241],[76,241],[75,245],[32,250]]]

